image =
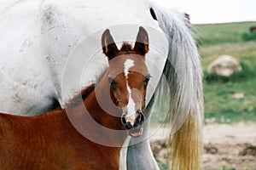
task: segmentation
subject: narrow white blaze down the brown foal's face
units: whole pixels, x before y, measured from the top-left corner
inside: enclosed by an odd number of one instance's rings
[[[128,80],[129,69],[132,66],[134,66],[134,61],[132,59],[126,59],[125,60],[125,77],[126,77],[126,80]],[[127,85],[127,90],[128,90],[128,94],[129,94],[129,100],[128,100],[128,105],[127,105],[126,121],[127,122],[131,122],[131,125],[133,125],[134,120],[135,120],[135,113],[136,113],[135,102],[131,98],[131,88],[130,88],[128,82],[127,82],[126,85]]]

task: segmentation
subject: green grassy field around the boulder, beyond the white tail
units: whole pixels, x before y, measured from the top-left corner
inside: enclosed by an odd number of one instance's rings
[[[256,40],[245,42],[241,38],[250,26],[256,26],[256,22],[195,26],[205,77],[207,65],[223,54],[235,57],[243,67],[230,79],[204,80],[206,122],[256,122]],[[235,94],[244,97],[236,99]],[[162,122],[160,115],[153,115],[153,122]]]

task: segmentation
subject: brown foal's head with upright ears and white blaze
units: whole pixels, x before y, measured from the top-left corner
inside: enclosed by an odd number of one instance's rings
[[[103,53],[108,56],[107,71],[113,103],[122,110],[121,122],[132,137],[143,133],[145,97],[149,81],[145,54],[148,53],[148,33],[140,27],[132,48],[124,43],[117,48],[109,30],[102,34]]]

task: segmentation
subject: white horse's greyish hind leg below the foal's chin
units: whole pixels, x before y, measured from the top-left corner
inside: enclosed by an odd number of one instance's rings
[[[154,96],[148,103],[146,113],[148,115],[143,126],[143,135],[139,138],[131,138],[127,150],[127,170],[159,170],[149,145],[148,130],[151,112],[154,106]]]

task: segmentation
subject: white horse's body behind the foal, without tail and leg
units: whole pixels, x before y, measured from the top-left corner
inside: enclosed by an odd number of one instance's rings
[[[116,42],[134,42],[138,26],[148,31],[150,44],[156,49],[152,48],[147,58],[155,64],[149,71],[156,75],[148,90],[149,100],[159,82],[168,46],[145,3],[1,0],[0,111],[34,115],[48,111],[53,99],[65,107],[108,63],[100,42],[107,28]]]

